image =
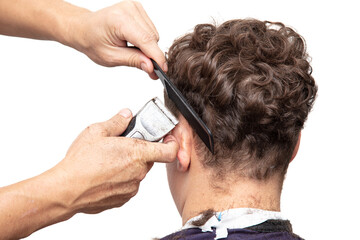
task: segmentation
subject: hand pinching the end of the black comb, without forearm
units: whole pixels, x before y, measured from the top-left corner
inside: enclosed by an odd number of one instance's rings
[[[159,34],[139,2],[123,1],[97,12],[76,14],[69,29],[68,45],[100,65],[137,67],[157,79],[152,58],[167,71],[164,53],[157,45]]]

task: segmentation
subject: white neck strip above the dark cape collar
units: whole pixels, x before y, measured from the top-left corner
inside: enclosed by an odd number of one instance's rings
[[[216,228],[216,237],[226,238],[228,229],[247,228],[258,225],[269,219],[286,220],[280,212],[267,211],[256,208],[233,208],[222,212],[216,212],[204,225],[198,227],[191,223],[202,217],[202,214],[189,219],[181,230],[188,228],[200,228],[203,232],[212,232]]]

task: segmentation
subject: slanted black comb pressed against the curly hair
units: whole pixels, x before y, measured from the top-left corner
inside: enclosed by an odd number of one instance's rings
[[[205,143],[206,147],[214,154],[214,139],[210,129],[206,124],[201,120],[199,115],[194,111],[194,109],[186,101],[182,93],[175,87],[175,85],[170,81],[168,76],[163,72],[159,65],[151,59],[154,64],[154,72],[160,78],[162,84],[164,85],[165,91],[168,97],[175,103],[176,107],[179,109],[181,114],[189,122],[190,126],[195,129],[197,135]]]

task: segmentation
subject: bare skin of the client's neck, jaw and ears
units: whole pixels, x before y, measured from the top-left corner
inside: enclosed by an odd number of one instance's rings
[[[229,173],[221,181],[204,168],[195,151],[194,133],[183,116],[172,134],[180,145],[177,160],[166,164],[169,187],[176,207],[185,224],[208,209],[224,211],[231,208],[257,208],[280,211],[283,177],[274,175],[257,181]],[[292,158],[296,156],[299,142]]]

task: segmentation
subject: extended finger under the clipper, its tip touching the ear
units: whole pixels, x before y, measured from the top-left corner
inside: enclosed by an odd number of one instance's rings
[[[170,163],[175,161],[177,152],[179,151],[179,144],[174,136],[166,136],[163,143],[143,142],[144,144],[137,145],[141,148],[139,153],[142,161],[146,163]]]

